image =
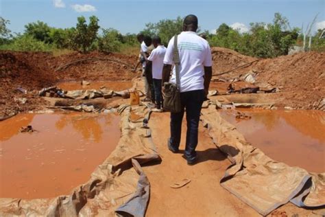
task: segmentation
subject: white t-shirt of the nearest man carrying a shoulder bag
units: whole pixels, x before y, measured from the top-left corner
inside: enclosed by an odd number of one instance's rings
[[[208,42],[195,32],[182,32],[178,35],[178,52],[180,53],[180,91],[204,89],[204,67],[212,66],[212,55]],[[169,41],[164,63],[173,65],[173,41]],[[176,83],[175,67],[171,82]]]

